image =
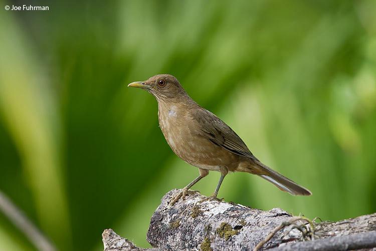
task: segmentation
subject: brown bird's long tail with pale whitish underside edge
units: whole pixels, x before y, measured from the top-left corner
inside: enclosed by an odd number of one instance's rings
[[[311,195],[312,192],[307,188],[295,183],[291,179],[286,178],[279,172],[274,171],[273,169],[263,165],[263,167],[268,170],[269,174],[259,175],[260,177],[271,182],[273,185],[281,189],[282,191],[288,192],[292,195]]]

